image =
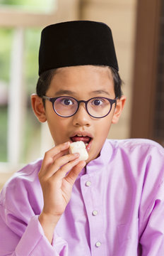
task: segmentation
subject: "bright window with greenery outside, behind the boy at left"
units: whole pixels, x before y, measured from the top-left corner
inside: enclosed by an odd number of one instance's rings
[[[30,107],[38,78],[40,31],[77,14],[74,0],[0,0],[0,165],[6,162],[17,169],[52,146],[47,125],[40,125]]]

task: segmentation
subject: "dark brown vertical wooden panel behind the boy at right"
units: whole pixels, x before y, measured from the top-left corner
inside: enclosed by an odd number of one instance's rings
[[[160,0],[138,0],[131,137],[153,139]]]

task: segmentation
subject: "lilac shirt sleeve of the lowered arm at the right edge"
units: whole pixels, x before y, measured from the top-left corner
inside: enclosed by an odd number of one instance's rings
[[[142,256],[164,255],[164,151],[148,156],[139,209]]]

